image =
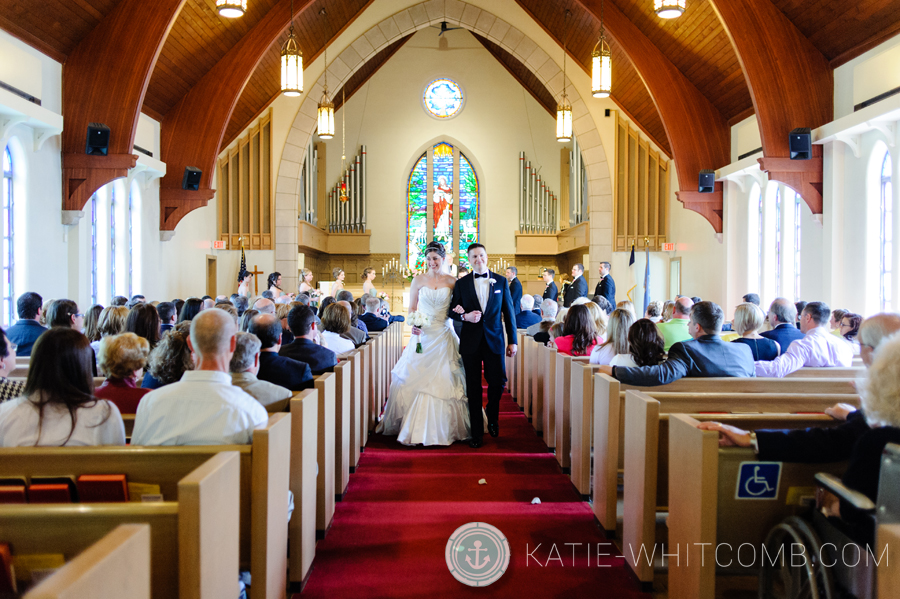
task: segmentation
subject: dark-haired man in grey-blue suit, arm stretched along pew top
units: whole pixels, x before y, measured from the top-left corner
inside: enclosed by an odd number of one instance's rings
[[[724,320],[722,308],[714,302],[695,304],[688,322],[688,331],[693,339],[672,345],[665,362],[637,368],[601,366],[599,371],[639,387],[667,385],[686,376],[755,376],[750,348],[740,343],[726,343],[719,336]]]

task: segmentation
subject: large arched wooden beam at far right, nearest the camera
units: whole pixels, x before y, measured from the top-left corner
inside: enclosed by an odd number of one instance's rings
[[[788,134],[834,118],[834,73],[828,61],[770,0],[710,4],[750,88],[763,145],[761,168],[770,180],[793,187],[813,214],[822,214],[821,148],[813,160],[792,163]]]

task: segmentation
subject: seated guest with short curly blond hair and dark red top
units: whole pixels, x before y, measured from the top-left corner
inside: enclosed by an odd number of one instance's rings
[[[140,305],[152,308],[149,304]],[[94,396],[111,401],[122,414],[137,412],[141,398],[151,391],[137,386],[149,356],[150,343],[134,333],[104,337],[100,341],[99,359],[106,380],[97,387]]]

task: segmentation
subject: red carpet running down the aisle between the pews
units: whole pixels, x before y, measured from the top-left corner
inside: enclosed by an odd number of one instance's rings
[[[500,436],[485,433],[480,449],[370,436],[294,598],[647,597],[621,557],[602,555],[615,547],[509,395],[500,410]],[[458,582],[444,557],[450,535],[469,522],[509,540],[509,568],[485,588]]]

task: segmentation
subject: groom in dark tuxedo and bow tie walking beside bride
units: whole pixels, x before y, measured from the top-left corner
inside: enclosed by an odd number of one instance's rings
[[[506,321],[506,355],[516,355],[516,320],[509,285],[503,275],[488,271],[487,251],[480,243],[469,246],[472,272],[461,278],[453,288],[448,316],[462,320],[459,353],[466,369],[466,395],[469,397],[469,419],[472,439],[469,447],[481,447],[484,420],[481,416],[481,367],[488,382],[488,432],[500,434],[500,396],[506,385],[506,365],[503,360],[503,324]]]

